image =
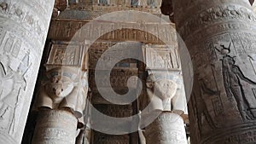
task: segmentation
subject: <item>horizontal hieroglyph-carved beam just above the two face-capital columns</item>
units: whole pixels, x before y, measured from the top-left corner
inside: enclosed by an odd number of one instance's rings
[[[99,16],[101,14],[98,14]],[[86,19],[86,18],[84,18]],[[89,19],[89,18],[88,18]],[[96,35],[102,36],[98,37],[100,40],[111,40],[111,41],[137,41],[143,43],[162,43],[158,38],[159,34],[161,36],[161,40],[165,40],[166,42],[174,42],[173,36],[175,33],[166,33],[166,28],[170,29],[170,25],[166,24],[140,24],[140,23],[125,23],[123,25],[119,25],[118,23],[113,22],[102,22],[96,26],[90,26],[87,22],[84,21],[73,21],[73,20],[53,20],[52,25],[49,27],[49,37],[55,40],[70,40],[76,32],[83,33],[82,37],[86,36],[86,39],[96,38]],[[132,27],[127,29],[125,27]],[[79,29],[81,28],[81,31]],[[139,31],[138,28],[143,29],[143,31]],[[108,32],[106,34],[102,33],[103,30],[113,30],[115,31]],[[94,30],[94,31],[93,31]],[[174,30],[174,29],[173,29]],[[144,32],[147,31],[147,32]],[[148,33],[155,33],[156,36]],[[171,43],[170,42],[170,43]]]

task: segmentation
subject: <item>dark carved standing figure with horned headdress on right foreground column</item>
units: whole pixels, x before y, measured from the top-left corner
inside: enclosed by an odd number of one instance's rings
[[[231,45],[231,43],[230,43]],[[235,57],[230,56],[230,46],[226,48],[224,45],[220,45],[221,49],[217,49],[218,52],[223,55],[222,67],[223,67],[223,78],[224,87],[228,97],[234,97],[236,99],[237,108],[241,113],[241,118],[244,121],[253,119],[253,113],[249,106],[250,98],[246,95],[246,87],[256,86],[256,82],[247,78],[239,66],[236,65]]]

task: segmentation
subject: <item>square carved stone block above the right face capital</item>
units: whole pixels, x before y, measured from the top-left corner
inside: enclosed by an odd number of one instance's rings
[[[181,70],[177,48],[171,46],[145,45],[143,47],[147,69]]]

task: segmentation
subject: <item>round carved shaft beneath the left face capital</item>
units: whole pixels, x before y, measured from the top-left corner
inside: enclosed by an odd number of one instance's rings
[[[65,125],[63,127],[63,125]],[[41,111],[32,143],[75,143],[77,118],[67,111]]]

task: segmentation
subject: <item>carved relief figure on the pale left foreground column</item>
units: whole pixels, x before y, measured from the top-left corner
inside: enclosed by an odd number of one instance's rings
[[[29,67],[28,63],[28,55],[25,55],[20,64],[16,64],[17,70],[13,70],[9,66],[9,56],[0,55],[0,129],[7,130],[9,134],[13,134],[19,121],[16,107],[20,104],[21,91],[26,90],[24,75]],[[3,85],[8,85],[8,88]]]

